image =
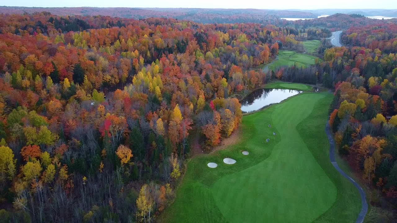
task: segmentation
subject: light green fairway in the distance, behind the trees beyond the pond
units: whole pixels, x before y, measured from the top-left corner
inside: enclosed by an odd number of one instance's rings
[[[277,59],[266,65],[264,71],[269,69],[277,71],[281,67],[291,67],[294,64],[298,67],[306,67],[315,64],[316,59],[318,59],[319,62],[322,61],[320,58],[309,54],[302,54],[291,50],[279,50]]]

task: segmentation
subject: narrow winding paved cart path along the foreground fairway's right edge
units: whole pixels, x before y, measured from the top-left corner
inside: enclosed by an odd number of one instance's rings
[[[338,163],[335,160],[335,142],[333,140],[333,137],[331,135],[331,128],[330,128],[330,124],[327,121],[327,125],[325,127],[325,133],[327,134],[328,140],[330,141],[330,160],[331,163],[333,165],[333,167],[335,167],[335,169],[344,177],[346,177],[358,190],[358,192],[360,193],[361,196],[361,211],[358,214],[356,223],[362,223],[364,221],[364,217],[368,211],[368,204],[365,198],[365,192],[364,190],[362,190],[361,186],[358,185],[358,183],[356,181],[354,181],[351,177],[349,177],[345,172],[343,172],[343,170],[339,167]]]

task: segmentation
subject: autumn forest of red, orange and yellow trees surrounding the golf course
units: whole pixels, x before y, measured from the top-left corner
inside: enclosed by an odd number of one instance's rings
[[[2,219],[160,221],[186,163],[239,134],[240,100],[274,81],[332,92],[341,160],[374,218],[396,216],[395,19],[164,17],[0,14]],[[264,69],[306,40],[312,65]]]

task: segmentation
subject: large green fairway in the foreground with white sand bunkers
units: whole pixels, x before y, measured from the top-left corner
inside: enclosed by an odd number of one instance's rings
[[[328,92],[304,92],[243,116],[237,144],[188,162],[160,221],[354,222],[358,191],[329,160],[324,129],[331,100]],[[237,163],[225,164],[226,157]]]

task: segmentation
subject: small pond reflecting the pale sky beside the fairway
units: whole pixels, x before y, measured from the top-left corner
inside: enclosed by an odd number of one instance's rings
[[[241,101],[241,111],[253,112],[264,106],[279,103],[301,92],[300,90],[288,89],[258,89]]]

